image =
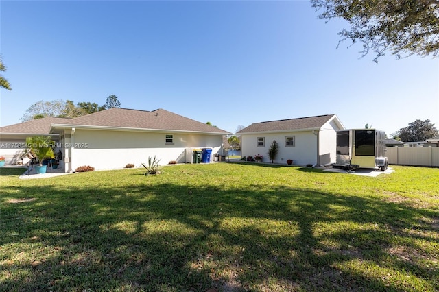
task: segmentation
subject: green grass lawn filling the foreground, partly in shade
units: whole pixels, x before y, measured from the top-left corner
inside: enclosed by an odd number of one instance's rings
[[[438,291],[439,169],[394,169],[2,168],[0,290]]]

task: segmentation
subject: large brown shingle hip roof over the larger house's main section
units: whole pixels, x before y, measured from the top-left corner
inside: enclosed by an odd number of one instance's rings
[[[60,125],[60,126],[58,126]],[[94,112],[82,117],[57,123],[62,125],[95,126],[95,127],[121,127],[145,130],[176,130],[189,132],[209,132],[228,134],[205,123],[200,123],[179,114],[158,109],[153,111],[130,110],[127,108],[110,108],[101,112]]]

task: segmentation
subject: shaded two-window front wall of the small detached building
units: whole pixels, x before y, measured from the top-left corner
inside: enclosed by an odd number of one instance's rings
[[[285,137],[294,136],[294,147],[285,147]],[[263,147],[257,146],[257,138],[265,138]],[[263,162],[271,162],[268,149],[273,140],[279,145],[279,152],[274,160],[275,163],[287,163],[293,160],[294,165],[315,165],[317,163],[317,134],[307,132],[279,132],[241,135],[241,156],[263,155]]]

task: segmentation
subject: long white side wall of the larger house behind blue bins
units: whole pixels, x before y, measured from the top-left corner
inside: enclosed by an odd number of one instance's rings
[[[173,135],[174,143],[165,143],[167,134]],[[90,165],[96,170],[120,169],[128,163],[139,167],[154,156],[161,160],[160,165],[167,165],[171,160],[184,163],[187,161],[187,148],[212,148],[213,160],[213,155],[222,148],[222,136],[75,129],[70,138],[64,139],[64,143],[67,146],[63,149],[65,171],[69,172],[83,165]]]

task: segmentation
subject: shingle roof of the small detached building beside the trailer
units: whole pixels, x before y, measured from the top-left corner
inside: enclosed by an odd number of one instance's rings
[[[303,129],[320,129],[327,121],[332,119],[335,114],[326,114],[316,117],[303,117],[297,119],[285,119],[278,121],[265,121],[261,123],[252,123],[245,127],[237,134],[253,132],[272,132],[272,131],[294,131]]]

